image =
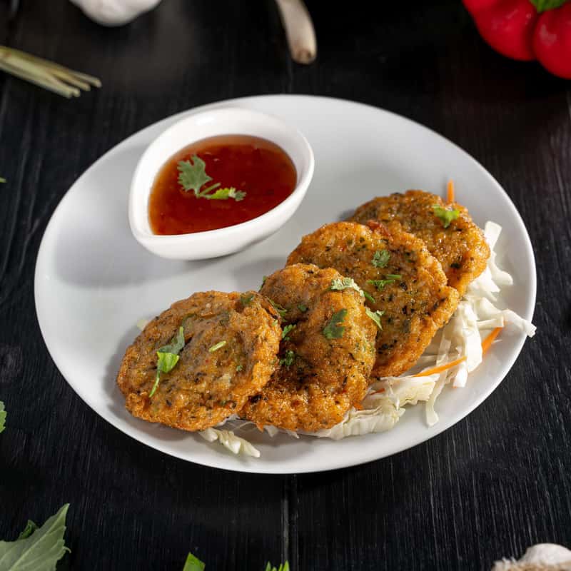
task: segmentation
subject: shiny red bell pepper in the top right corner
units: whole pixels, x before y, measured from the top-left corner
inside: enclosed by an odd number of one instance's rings
[[[463,0],[480,35],[500,54],[540,61],[571,79],[571,1]]]

